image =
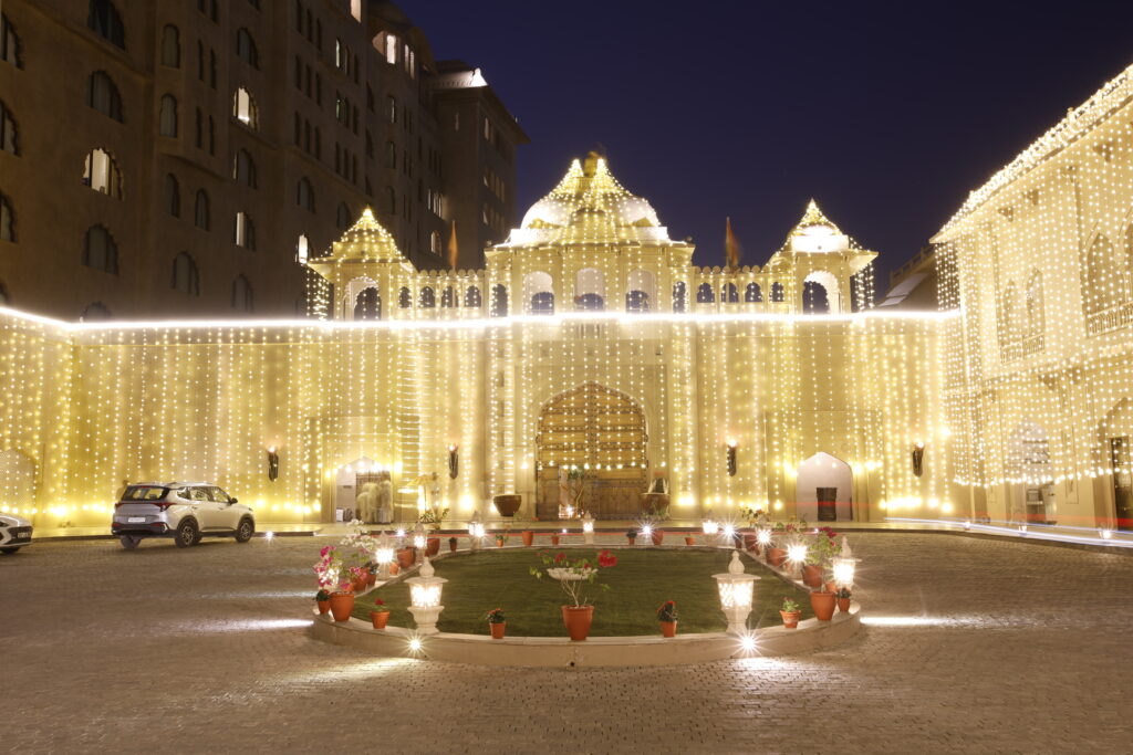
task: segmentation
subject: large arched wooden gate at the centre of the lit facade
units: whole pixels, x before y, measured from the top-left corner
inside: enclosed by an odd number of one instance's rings
[[[560,486],[571,469],[585,474],[585,505],[596,518],[636,518],[646,489],[645,412],[624,393],[586,383],[539,411],[535,438],[536,512],[559,516]]]

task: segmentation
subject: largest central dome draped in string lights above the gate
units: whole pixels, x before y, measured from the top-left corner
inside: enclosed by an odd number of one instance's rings
[[[531,205],[506,244],[668,241],[653,206],[625,190],[604,157],[571,162],[551,194]]]

